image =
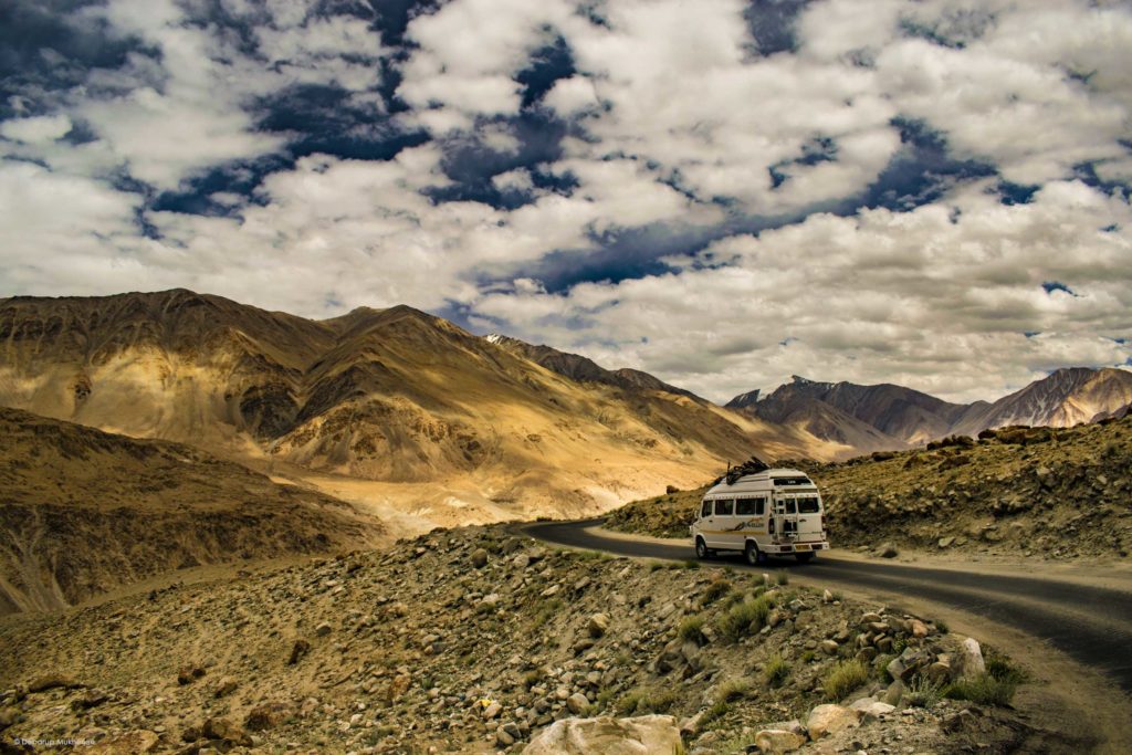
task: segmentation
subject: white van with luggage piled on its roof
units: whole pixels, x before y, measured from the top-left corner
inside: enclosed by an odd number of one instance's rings
[[[737,550],[748,564],[781,555],[808,561],[830,548],[822,515],[822,497],[805,472],[766,470],[711,488],[689,530],[698,558]]]

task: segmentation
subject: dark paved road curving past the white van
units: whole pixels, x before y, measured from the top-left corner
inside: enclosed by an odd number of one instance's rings
[[[533,538],[620,556],[687,560],[691,543],[661,543],[602,537],[592,531],[601,520],[522,525]],[[588,531],[589,530],[589,531]],[[736,559],[721,565],[747,567]],[[1132,692],[1132,593],[1105,587],[975,572],[934,569],[903,564],[869,563],[823,554],[809,564],[770,561],[806,577],[847,587],[920,598],[977,617],[1017,627],[1045,640],[1078,661],[1108,674]],[[756,570],[763,570],[758,567]]]

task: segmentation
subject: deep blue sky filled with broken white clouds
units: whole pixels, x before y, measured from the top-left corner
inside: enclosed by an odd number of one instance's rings
[[[971,401],[1132,364],[1130,196],[1129,2],[0,5],[0,295]]]

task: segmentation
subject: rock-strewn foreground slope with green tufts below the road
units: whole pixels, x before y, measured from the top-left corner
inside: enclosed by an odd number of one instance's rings
[[[462,529],[388,552],[8,617],[3,747],[74,739],[122,754],[537,755],[1084,745],[1003,707],[1023,674],[940,624],[796,587],[786,573],[694,566]]]

